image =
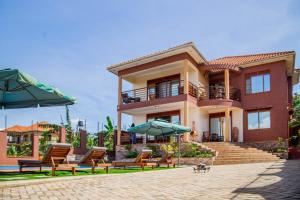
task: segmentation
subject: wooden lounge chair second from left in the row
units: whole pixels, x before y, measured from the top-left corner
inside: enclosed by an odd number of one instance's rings
[[[105,172],[108,173],[109,163],[104,162],[104,156],[106,155],[105,147],[93,147],[90,149],[80,160],[79,165],[87,165],[92,167],[92,173],[95,173],[96,167],[103,167]]]

